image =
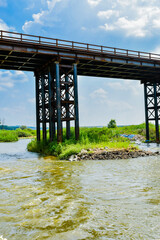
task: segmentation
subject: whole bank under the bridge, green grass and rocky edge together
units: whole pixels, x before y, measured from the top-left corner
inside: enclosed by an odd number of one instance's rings
[[[153,135],[150,125],[150,136]],[[74,128],[71,128],[70,139],[63,134],[63,141],[57,143],[56,137],[52,142],[47,140],[31,141],[27,149],[43,156],[56,156],[58,159],[128,159],[141,156],[151,156],[155,153],[147,152],[150,149],[140,150],[139,144],[144,141],[145,124],[131,125],[119,128],[80,128],[80,137],[75,140]],[[152,142],[154,139],[152,139]],[[135,144],[138,144],[136,146]],[[159,150],[158,150],[159,151]]]

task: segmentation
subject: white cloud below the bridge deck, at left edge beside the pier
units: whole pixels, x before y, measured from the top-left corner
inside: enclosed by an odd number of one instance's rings
[[[0,71],[0,91],[13,88],[16,83],[28,81],[28,77],[21,71]]]

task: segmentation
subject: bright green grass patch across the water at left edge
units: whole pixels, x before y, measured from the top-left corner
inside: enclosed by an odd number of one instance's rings
[[[32,129],[0,130],[0,142],[15,142],[21,137],[33,137],[36,131]]]

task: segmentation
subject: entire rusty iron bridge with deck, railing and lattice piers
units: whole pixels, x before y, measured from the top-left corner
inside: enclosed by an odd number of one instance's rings
[[[31,71],[36,84],[37,140],[70,138],[75,121],[79,138],[77,76],[138,80],[144,85],[146,139],[154,121],[159,142],[160,55],[88,43],[0,31],[0,69]],[[57,131],[56,131],[57,129]]]

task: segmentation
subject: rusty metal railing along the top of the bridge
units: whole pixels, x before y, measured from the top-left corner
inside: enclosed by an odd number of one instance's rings
[[[160,54],[140,52],[121,48],[112,48],[95,44],[73,42],[56,38],[35,36],[16,32],[0,31],[0,39],[16,42],[33,43],[45,45],[48,47],[67,48],[71,50],[81,50],[87,52],[96,52],[102,54],[113,54],[115,56],[145,58],[148,60],[160,60]]]

